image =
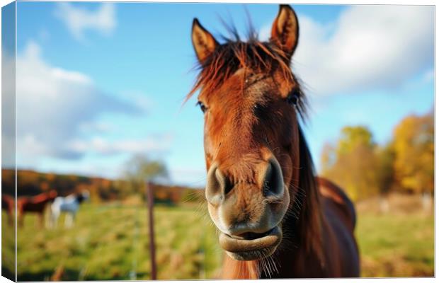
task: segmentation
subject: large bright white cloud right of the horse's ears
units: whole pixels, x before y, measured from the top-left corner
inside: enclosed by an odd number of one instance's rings
[[[292,67],[317,95],[394,88],[433,67],[432,6],[351,6],[334,23],[299,21]]]

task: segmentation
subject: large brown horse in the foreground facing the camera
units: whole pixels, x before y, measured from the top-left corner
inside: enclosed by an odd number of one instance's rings
[[[281,5],[268,42],[250,29],[223,44],[195,18],[207,166],[205,196],[226,251],[224,278],[358,277],[355,209],[315,177],[299,124],[306,100],[290,69],[299,26]]]

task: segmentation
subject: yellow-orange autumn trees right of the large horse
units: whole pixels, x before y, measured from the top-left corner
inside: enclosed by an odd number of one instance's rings
[[[338,141],[324,145],[320,174],[343,187],[353,200],[390,191],[433,194],[433,110],[404,117],[383,145],[374,141],[367,127],[343,127]]]

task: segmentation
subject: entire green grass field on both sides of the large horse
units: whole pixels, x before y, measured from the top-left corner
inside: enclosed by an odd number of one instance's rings
[[[203,211],[203,209],[201,209]],[[154,209],[159,279],[213,279],[222,251],[210,220],[196,207]],[[7,226],[2,215],[3,231]],[[84,204],[74,229],[41,229],[36,216],[18,229],[18,280],[150,279],[147,209]],[[433,215],[361,212],[356,234],[365,277],[433,276]],[[13,264],[13,233],[2,239],[5,267]]]

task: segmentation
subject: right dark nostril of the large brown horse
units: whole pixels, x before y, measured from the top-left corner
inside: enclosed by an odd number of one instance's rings
[[[283,190],[283,175],[280,170],[280,165],[275,158],[270,158],[263,179],[263,195],[265,197],[282,197]]]

